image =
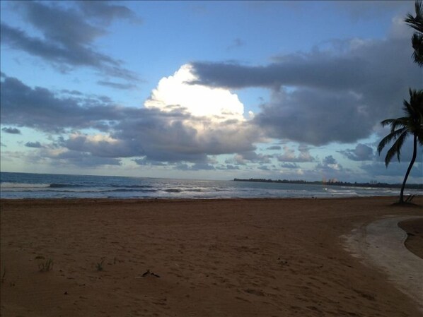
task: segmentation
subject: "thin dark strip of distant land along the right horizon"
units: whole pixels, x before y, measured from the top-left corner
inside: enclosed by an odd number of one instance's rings
[[[253,181],[257,183],[281,183],[281,184],[309,184],[309,185],[330,185],[330,186],[352,186],[352,187],[371,187],[371,188],[387,188],[400,189],[402,184],[388,184],[388,183],[349,183],[347,181],[303,181],[303,180],[288,180],[288,179],[233,179],[233,181]],[[406,184],[406,189],[422,189],[423,184]]]

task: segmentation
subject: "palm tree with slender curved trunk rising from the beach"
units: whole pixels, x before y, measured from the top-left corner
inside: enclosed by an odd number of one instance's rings
[[[417,156],[417,143],[423,145],[423,90],[410,89],[410,102],[404,100],[405,116],[397,119],[386,119],[381,122],[382,126],[390,126],[390,133],[383,138],[378,145],[378,153],[392,140],[395,140],[392,147],[386,152],[385,165],[388,167],[390,160],[397,155],[400,162],[401,148],[407,136],[413,136],[413,152],[410,165],[405,173],[404,181],[402,181],[400,192],[400,203],[404,203],[404,188],[408,175],[415,163]]]

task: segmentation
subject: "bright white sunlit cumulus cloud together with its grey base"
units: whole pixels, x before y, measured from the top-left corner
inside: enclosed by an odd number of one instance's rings
[[[190,65],[162,78],[144,107],[151,116],[122,122],[116,136],[144,140],[149,160],[204,162],[207,155],[254,150],[261,139],[243,117],[238,96],[223,88],[190,85]]]

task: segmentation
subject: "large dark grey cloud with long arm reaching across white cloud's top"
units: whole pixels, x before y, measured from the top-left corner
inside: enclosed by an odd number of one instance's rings
[[[333,40],[311,52],[277,56],[265,66],[192,66],[196,83],[269,88],[270,102],[254,118],[267,136],[313,145],[352,143],[368,137],[382,119],[400,116],[409,86],[422,83],[404,28],[394,25],[386,40]]]

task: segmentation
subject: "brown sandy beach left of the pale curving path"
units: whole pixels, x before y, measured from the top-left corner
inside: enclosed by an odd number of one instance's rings
[[[422,316],[340,238],[393,201],[2,200],[1,316]]]

